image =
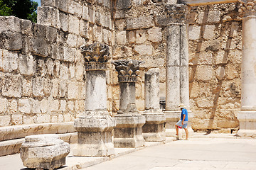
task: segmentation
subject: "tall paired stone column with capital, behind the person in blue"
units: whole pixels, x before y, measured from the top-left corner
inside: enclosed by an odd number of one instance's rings
[[[178,108],[183,103],[188,110],[189,135],[193,135],[191,119],[193,113],[189,111],[188,84],[188,30],[186,14],[188,8],[184,4],[169,5],[167,15],[170,23],[167,26],[166,50],[166,136],[176,134],[174,125],[181,117]],[[181,130],[180,130],[181,132]]]

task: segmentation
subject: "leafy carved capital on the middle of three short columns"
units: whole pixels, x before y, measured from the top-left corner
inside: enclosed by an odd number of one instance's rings
[[[136,82],[139,75],[139,64],[143,61],[138,60],[117,60],[112,62],[118,72],[120,83]]]

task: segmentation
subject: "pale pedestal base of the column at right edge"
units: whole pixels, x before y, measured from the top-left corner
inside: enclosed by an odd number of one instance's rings
[[[256,111],[241,111],[238,113],[240,137],[256,137]]]

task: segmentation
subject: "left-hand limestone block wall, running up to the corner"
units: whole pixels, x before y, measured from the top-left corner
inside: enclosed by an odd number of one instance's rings
[[[112,45],[110,0],[41,4],[37,24],[0,17],[0,126],[73,121],[85,111],[80,45]]]

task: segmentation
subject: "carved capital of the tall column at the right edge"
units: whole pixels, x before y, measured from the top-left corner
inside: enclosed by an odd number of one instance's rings
[[[256,0],[239,0],[242,16],[256,16]]]

